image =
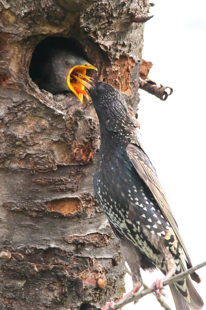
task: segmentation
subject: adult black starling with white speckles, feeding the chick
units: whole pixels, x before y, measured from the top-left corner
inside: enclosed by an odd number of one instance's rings
[[[137,292],[142,286],[140,267],[158,267],[166,280],[191,267],[191,260],[124,97],[107,83],[82,83],[90,90],[101,132],[95,194],[131,269],[131,292]],[[200,282],[194,272],[170,286],[177,310],[201,309],[204,305],[191,279]],[[162,281],[156,284],[161,296]],[[102,309],[112,309],[112,305],[114,302],[107,303]]]

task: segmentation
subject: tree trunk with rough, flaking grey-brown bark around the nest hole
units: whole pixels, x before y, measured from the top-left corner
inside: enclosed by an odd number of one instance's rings
[[[92,104],[29,77],[35,47],[74,38],[137,111],[143,1],[0,0],[0,309],[99,309],[124,292],[124,260],[95,199]],[[144,20],[140,19],[140,20]]]

